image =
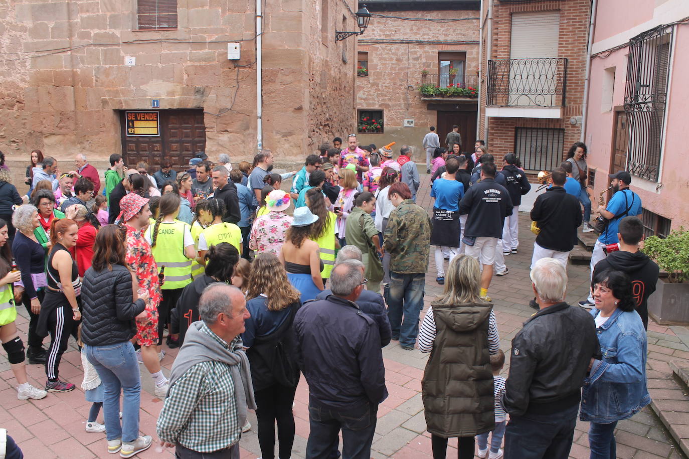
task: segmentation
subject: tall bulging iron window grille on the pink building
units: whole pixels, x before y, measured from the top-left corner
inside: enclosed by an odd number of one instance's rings
[[[658,26],[630,40],[624,111],[627,114],[627,170],[658,181],[665,128],[672,26]]]

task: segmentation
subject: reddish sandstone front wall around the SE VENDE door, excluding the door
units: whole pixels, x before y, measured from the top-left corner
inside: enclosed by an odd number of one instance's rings
[[[341,5],[325,1],[331,11]],[[320,37],[320,30],[305,26],[312,23],[305,11],[316,3],[271,0],[265,6],[263,145],[282,159],[302,158],[313,143],[314,116],[307,123],[305,114],[311,67],[336,65],[334,57],[341,62],[335,52],[307,49],[312,34]],[[0,150],[10,160],[33,148],[70,161],[76,152],[107,159],[121,152],[116,110],[150,109],[151,99],[160,99],[161,110],[205,110],[209,156],[225,152],[233,161],[250,161],[256,150],[254,21],[249,0],[179,0],[178,28],[158,31],[136,30],[136,0],[2,2],[0,52],[17,54],[3,54],[0,62]],[[227,59],[228,41],[241,42],[240,60]],[[126,56],[136,65],[124,65]],[[349,96],[349,103],[330,110],[328,123],[346,125],[353,79],[338,72],[325,74],[326,87],[336,83],[336,96]]]

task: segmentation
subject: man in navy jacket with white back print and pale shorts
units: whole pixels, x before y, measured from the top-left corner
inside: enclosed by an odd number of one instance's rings
[[[484,155],[485,156],[485,155]],[[505,217],[512,214],[512,199],[504,186],[495,181],[495,164],[481,165],[481,180],[469,187],[460,201],[460,215],[466,218],[464,238],[466,254],[483,265],[481,296],[490,301],[488,287],[493,278],[497,242],[502,238]]]

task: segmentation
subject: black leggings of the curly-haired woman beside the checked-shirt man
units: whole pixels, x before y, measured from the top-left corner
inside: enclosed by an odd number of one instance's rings
[[[258,445],[263,459],[275,458],[275,422],[278,422],[278,458],[288,459],[294,444],[292,402],[297,387],[276,384],[254,393],[258,418]]]

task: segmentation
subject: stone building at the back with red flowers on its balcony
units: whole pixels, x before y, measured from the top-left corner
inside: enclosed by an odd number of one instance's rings
[[[477,88],[478,83],[480,1],[373,0],[366,4],[373,17],[357,48],[360,143],[380,147],[395,141],[395,152],[411,145],[418,152],[415,161],[422,164],[422,140],[429,126],[437,128],[444,143],[447,132],[457,124],[462,150],[473,151],[478,94],[471,94],[469,88]],[[438,88],[466,91],[433,94]],[[381,127],[371,128],[371,119],[382,119]]]

